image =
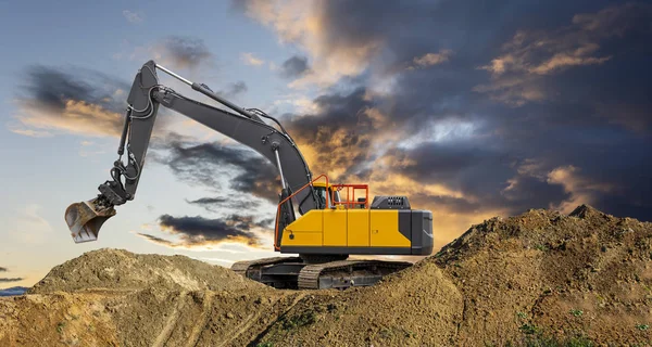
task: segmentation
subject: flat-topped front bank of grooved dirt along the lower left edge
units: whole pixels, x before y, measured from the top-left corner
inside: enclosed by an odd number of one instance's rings
[[[58,292],[0,299],[0,346],[248,346],[303,294]]]

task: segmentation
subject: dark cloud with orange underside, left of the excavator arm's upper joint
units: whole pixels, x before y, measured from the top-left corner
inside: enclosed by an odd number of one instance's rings
[[[83,68],[33,65],[18,89],[17,112],[8,128],[29,137],[75,133],[116,137],[123,126],[124,81]]]

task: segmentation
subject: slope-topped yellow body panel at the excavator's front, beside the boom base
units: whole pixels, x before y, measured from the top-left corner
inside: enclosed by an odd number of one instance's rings
[[[313,209],[290,223],[283,233],[284,246],[322,246],[323,210]],[[290,239],[290,235],[293,237]]]

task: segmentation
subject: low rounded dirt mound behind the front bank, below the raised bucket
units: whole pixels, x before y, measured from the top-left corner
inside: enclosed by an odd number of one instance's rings
[[[229,269],[185,256],[142,255],[104,248],[54,267],[28,294],[146,287],[167,291],[266,288]]]

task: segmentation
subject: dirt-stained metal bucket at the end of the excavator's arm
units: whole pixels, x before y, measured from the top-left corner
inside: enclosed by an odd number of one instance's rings
[[[98,240],[102,224],[115,216],[113,207],[99,208],[96,200],[72,204],[65,210],[65,222],[75,243]]]

